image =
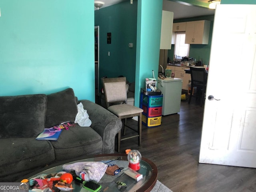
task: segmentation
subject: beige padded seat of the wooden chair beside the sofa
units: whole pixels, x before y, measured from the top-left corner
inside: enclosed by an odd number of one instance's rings
[[[116,116],[126,116],[132,114],[142,113],[143,110],[141,108],[127,105],[127,104],[120,104],[120,105],[112,105],[108,108],[110,112],[115,114]],[[134,115],[137,116],[137,115]]]

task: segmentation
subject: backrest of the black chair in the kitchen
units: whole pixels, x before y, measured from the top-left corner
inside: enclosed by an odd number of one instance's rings
[[[205,68],[190,67],[191,83],[206,84],[207,74]]]

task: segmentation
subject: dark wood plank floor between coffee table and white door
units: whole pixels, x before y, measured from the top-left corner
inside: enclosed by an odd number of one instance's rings
[[[198,163],[202,119],[200,104],[182,101],[180,112],[163,116],[161,126],[142,127],[141,146],[137,138],[121,141],[121,152],[139,150],[156,164],[158,180],[173,192],[255,192],[256,169]]]

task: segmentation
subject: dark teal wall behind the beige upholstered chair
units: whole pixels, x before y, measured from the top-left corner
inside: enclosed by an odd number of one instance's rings
[[[135,81],[137,1],[119,3],[94,11],[95,25],[100,28],[99,77],[125,76]],[[107,33],[111,32],[111,44],[107,44]],[[133,48],[128,44],[133,43]],[[110,52],[110,56],[108,56]],[[99,80],[101,88],[101,80]]]

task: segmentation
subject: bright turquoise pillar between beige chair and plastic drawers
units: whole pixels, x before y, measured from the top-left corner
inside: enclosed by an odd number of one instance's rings
[[[152,70],[158,76],[162,4],[138,0],[135,106],[140,104],[140,88],[145,88],[145,78],[152,78]]]

